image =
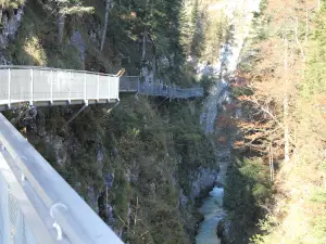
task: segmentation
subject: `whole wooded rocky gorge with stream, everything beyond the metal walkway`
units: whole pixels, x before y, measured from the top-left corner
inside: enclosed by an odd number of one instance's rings
[[[325,1],[4,0],[1,13],[2,65],[203,88],[2,113],[123,242],[325,243]]]

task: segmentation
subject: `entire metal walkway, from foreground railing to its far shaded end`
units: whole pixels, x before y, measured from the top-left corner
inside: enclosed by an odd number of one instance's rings
[[[120,92],[167,99],[201,88],[140,84],[138,77],[29,66],[0,66],[0,111],[21,103],[114,103]],[[121,244],[120,237],[0,113],[0,243]]]

